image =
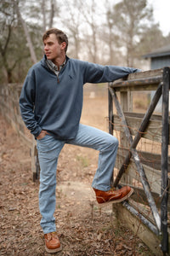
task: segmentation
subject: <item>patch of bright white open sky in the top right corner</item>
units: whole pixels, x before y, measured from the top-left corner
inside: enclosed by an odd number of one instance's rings
[[[154,18],[160,23],[164,36],[170,32],[170,0],[148,0],[154,9]]]

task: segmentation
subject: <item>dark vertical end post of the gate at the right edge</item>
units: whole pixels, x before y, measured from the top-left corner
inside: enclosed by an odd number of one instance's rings
[[[162,143],[161,143],[161,250],[168,253],[168,233],[167,233],[167,197],[168,197],[168,139],[169,139],[169,86],[170,69],[163,69],[162,88]]]

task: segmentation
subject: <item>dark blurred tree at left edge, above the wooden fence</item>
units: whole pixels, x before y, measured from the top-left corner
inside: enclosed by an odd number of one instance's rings
[[[14,68],[23,59],[24,52],[22,51],[21,42],[23,38],[20,37],[20,26],[18,25],[17,15],[14,11],[14,5],[10,1],[2,1],[0,3],[0,55],[1,61],[1,75],[2,80],[6,80],[8,83],[14,82]],[[13,44],[11,44],[13,42]],[[19,46],[20,44],[20,46]],[[26,42],[25,42],[26,44]]]

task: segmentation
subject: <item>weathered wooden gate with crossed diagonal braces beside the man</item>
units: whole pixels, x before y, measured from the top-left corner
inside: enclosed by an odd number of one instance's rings
[[[109,131],[111,134],[118,131],[121,142],[116,158],[118,172],[112,184],[115,188],[129,184],[134,189],[132,199],[117,205],[114,211],[117,218],[124,220],[156,255],[168,255],[170,245],[169,87],[169,67],[132,73],[108,87]],[[146,113],[134,113],[133,92],[145,90],[156,90],[155,96]],[[156,115],[154,110],[161,96],[162,113]],[[160,144],[159,154],[137,148],[146,139]]]

